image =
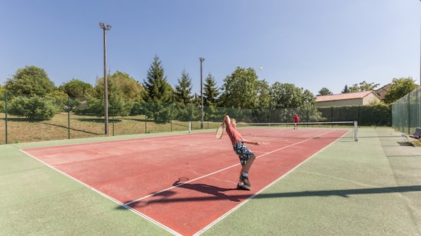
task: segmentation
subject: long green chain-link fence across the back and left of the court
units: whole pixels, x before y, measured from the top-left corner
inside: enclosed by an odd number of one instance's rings
[[[105,109],[101,99],[2,95],[0,144],[105,136]],[[292,123],[295,114],[299,114],[302,122],[357,120],[359,124],[388,125],[389,110],[379,106],[259,109],[206,106],[203,107],[203,121],[220,122],[229,114],[244,123]],[[201,121],[202,116],[198,104],[123,99],[109,99],[108,111],[107,134],[110,136],[188,132],[189,122]],[[206,125],[203,128],[206,129]]]

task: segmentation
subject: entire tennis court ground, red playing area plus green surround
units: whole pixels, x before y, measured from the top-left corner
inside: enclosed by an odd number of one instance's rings
[[[2,175],[20,181],[3,184],[14,190],[3,198],[13,217],[1,225],[17,235],[420,235],[419,153],[396,145],[398,135],[384,130],[363,130],[359,142],[349,128],[241,130],[246,139],[268,143],[251,146],[258,159],[250,192],[235,190],[237,157],[228,138],[213,132],[4,145],[17,158],[2,155]],[[385,155],[389,147],[413,154]],[[16,170],[19,163],[25,165]],[[37,175],[44,178],[32,182]],[[49,189],[25,200],[28,188]],[[42,199],[48,204],[40,213]],[[30,231],[30,214],[56,227]],[[32,221],[19,226],[25,218]]]

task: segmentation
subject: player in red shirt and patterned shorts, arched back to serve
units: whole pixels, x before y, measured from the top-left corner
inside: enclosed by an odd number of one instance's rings
[[[230,116],[227,115],[224,117],[223,124],[226,126],[225,130],[227,131],[227,135],[230,137],[232,147],[239,157],[239,162],[242,166],[239,173],[237,189],[251,190],[251,185],[249,182],[249,170],[253,164],[254,159],[256,159],[256,156],[247,148],[245,144],[260,145],[260,143],[244,139],[236,129],[235,118],[230,118]]]

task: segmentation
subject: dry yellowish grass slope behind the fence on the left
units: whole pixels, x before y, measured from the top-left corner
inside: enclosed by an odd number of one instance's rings
[[[187,130],[189,130],[189,123],[177,120],[157,124],[143,115],[109,117],[109,135],[137,135]],[[103,117],[77,116],[73,113],[59,113],[51,120],[39,122],[8,115],[7,135],[9,144],[100,137],[105,136],[105,124]],[[0,113],[0,144],[6,144],[6,116],[4,113]]]

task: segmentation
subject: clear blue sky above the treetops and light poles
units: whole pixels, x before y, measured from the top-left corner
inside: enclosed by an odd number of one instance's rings
[[[203,80],[211,73],[219,87],[237,66],[314,95],[395,77],[420,84],[418,0],[1,0],[0,22],[1,85],[25,66],[45,69],[56,86],[95,85],[103,76],[100,22],[112,25],[111,73],[143,82],[159,56],[170,85],[186,70],[197,94],[199,57]]]

